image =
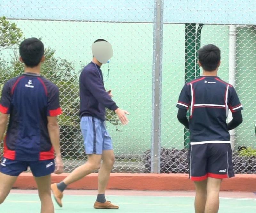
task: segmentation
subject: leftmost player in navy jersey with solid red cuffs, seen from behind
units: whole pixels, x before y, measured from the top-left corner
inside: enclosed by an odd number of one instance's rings
[[[40,76],[44,62],[44,45],[36,38],[20,44],[20,61],[25,64],[21,76],[8,80],[0,101],[0,138],[4,138],[4,155],[0,165],[0,203],[9,194],[21,172],[30,167],[38,186],[41,213],[53,213],[51,173],[63,171],[60,155],[59,126],[61,114],[59,89]]]

